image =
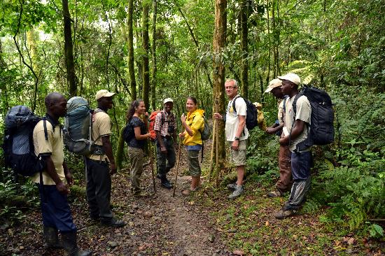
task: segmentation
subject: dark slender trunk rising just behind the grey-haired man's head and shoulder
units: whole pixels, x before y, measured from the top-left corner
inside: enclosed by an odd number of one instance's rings
[[[241,0],[241,92],[248,98],[248,0]]]

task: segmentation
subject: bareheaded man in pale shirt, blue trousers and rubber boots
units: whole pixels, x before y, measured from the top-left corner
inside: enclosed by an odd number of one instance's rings
[[[90,255],[79,251],[76,242],[76,226],[67,201],[72,175],[64,162],[63,135],[59,118],[66,113],[66,99],[62,94],[52,92],[45,97],[47,113],[34,127],[34,149],[36,156],[45,163],[45,170],[33,177],[38,183],[43,216],[43,232],[46,248],[63,248],[69,255]],[[43,181],[43,184],[41,184]],[[58,230],[62,242],[57,238]]]

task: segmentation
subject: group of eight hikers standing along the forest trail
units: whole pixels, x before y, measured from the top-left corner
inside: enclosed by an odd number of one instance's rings
[[[288,201],[275,218],[283,219],[295,215],[303,204],[310,187],[310,148],[297,150],[296,145],[307,138],[311,107],[307,97],[295,97],[298,94],[300,77],[294,73],[278,76],[272,80],[266,92],[271,92],[278,99],[278,122],[266,129],[267,134],[279,134],[279,170],[280,178],[276,190],[268,197],[282,197],[291,191]],[[248,129],[246,127],[246,101],[239,97],[237,81],[225,81],[225,92],[229,102],[225,113],[214,113],[216,122],[225,122],[225,138],[229,143],[231,161],[237,169],[237,182],[229,184],[232,190],[229,199],[235,199],[244,193],[246,167],[246,145]],[[99,221],[107,227],[123,227],[125,222],[113,216],[110,206],[111,176],[117,166],[111,145],[111,120],[107,111],[113,107],[114,93],[99,90],[95,95],[97,108],[92,114],[92,138],[96,138],[94,152],[85,157],[86,194],[91,220]],[[293,101],[295,102],[293,103]],[[76,240],[76,226],[67,201],[69,186],[73,177],[64,162],[64,142],[59,118],[66,115],[67,101],[62,94],[52,92],[45,97],[46,114],[33,130],[35,154],[45,159],[45,171],[36,173],[34,182],[38,183],[43,216],[43,236],[46,248],[64,248],[69,255],[90,255],[90,251],[79,250]],[[177,134],[176,117],[172,113],[173,100],[163,101],[164,108],[155,116],[153,130],[156,134],[156,152],[158,174],[162,187],[171,189],[174,185],[167,179],[167,173],[176,162],[177,136],[183,140],[188,155],[188,170],[192,177],[190,187],[182,190],[188,195],[200,189],[201,167],[198,160],[202,150],[202,129],[204,129],[204,111],[198,108],[197,99],[186,100],[187,115],[181,115],[183,131]],[[293,110],[293,107],[295,108]],[[132,194],[146,196],[141,189],[140,177],[144,168],[144,148],[151,137],[148,131],[148,113],[144,101],[132,102],[127,110],[128,158],[131,164]],[[99,151],[99,152],[98,152]],[[293,178],[292,178],[293,177]],[[58,231],[62,240],[58,239]]]

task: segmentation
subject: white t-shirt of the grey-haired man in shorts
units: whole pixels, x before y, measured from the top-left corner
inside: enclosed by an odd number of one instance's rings
[[[225,134],[226,134],[227,141],[235,140],[235,134],[237,133],[238,125],[239,125],[238,115],[244,115],[244,117],[246,118],[246,102],[241,97],[237,98],[235,100],[235,109],[237,110],[237,112],[235,112],[235,110],[232,109],[232,101],[234,99],[229,101],[228,108],[226,108]],[[243,141],[243,140],[246,140],[247,138],[248,138],[248,130],[245,124],[244,132],[241,134],[239,140]]]

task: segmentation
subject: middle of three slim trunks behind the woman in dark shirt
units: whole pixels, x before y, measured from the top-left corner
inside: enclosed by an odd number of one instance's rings
[[[143,72],[143,101],[146,107],[149,106],[148,92],[150,92],[150,69],[148,66],[148,10],[150,4],[148,0],[143,1],[143,13],[142,13],[142,46],[144,50],[142,72]]]

